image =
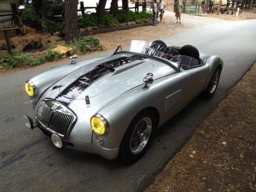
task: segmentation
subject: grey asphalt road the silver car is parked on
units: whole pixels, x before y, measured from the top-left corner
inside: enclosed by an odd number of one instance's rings
[[[131,166],[98,155],[59,150],[39,129],[24,127],[22,115],[32,116],[33,112],[23,83],[68,61],[0,75],[0,191],[143,189],[250,69],[256,60],[255,32],[256,20],[250,20],[195,28],[162,38],[170,45],[192,44],[203,52],[221,55],[225,65],[216,95],[211,100],[199,96],[165,123],[149,151]]]

